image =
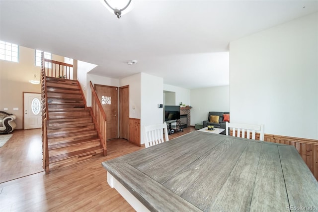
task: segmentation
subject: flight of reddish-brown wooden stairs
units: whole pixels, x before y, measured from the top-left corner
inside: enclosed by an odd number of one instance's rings
[[[76,80],[45,77],[49,171],[105,154],[91,109]],[[44,95],[43,95],[44,96]],[[43,100],[43,98],[42,98]],[[49,172],[46,170],[46,173]]]

